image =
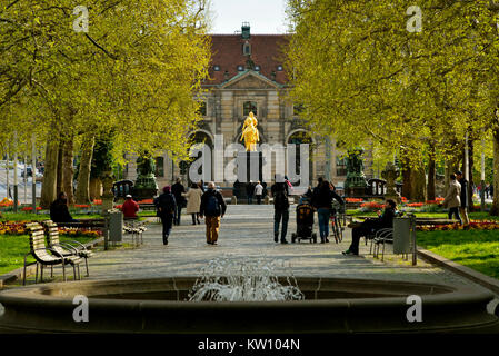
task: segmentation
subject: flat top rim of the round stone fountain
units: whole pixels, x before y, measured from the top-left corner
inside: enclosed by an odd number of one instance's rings
[[[279,278],[286,278],[287,276],[278,276]],[[335,277],[295,277],[297,280],[301,281],[316,281],[316,280],[328,280],[328,281],[338,281],[343,284],[362,284],[366,287],[369,286],[380,286],[386,284],[389,284],[390,288],[387,290],[387,293],[390,293],[390,289],[397,289],[392,287],[403,287],[403,286],[411,286],[411,287],[422,287],[422,288],[436,288],[440,290],[445,290],[441,293],[436,294],[421,294],[421,299],[425,304],[431,305],[431,304],[439,304],[442,300],[446,300],[446,303],[476,303],[479,300],[491,300],[493,299],[493,294],[489,290],[477,288],[472,286],[449,286],[449,285],[442,285],[442,284],[433,284],[433,283],[415,283],[415,281],[402,281],[402,280],[380,280],[380,279],[362,279],[362,278],[335,278]],[[92,287],[92,288],[99,288],[99,287],[106,287],[106,286],[119,286],[119,285],[137,285],[137,284],[154,284],[158,285],[158,283],[173,283],[176,280],[180,281],[196,281],[199,279],[199,276],[171,276],[171,277],[152,277],[152,278],[126,278],[126,279],[101,279],[101,280],[78,280],[78,281],[60,281],[60,283],[48,283],[48,284],[40,284],[40,285],[32,285],[32,286],[23,286],[23,287],[14,287],[12,289],[4,289],[0,291],[0,303],[7,303],[7,304],[17,304],[17,305],[33,305],[34,304],[41,304],[41,305],[59,305],[61,303],[70,303],[72,305],[73,296],[77,295],[77,293],[71,294],[70,296],[52,296],[48,295],[47,291],[54,290],[57,288],[64,288],[69,287],[69,290],[72,290],[78,287]],[[174,290],[174,289],[173,289]],[[447,290],[447,291],[446,291]],[[122,293],[129,293],[131,290],[122,291]],[[367,288],[367,291],[369,291],[369,288]],[[110,295],[114,295],[119,293],[110,293]],[[94,295],[102,295],[102,293],[94,293]],[[140,306],[151,306],[151,307],[161,307],[161,306],[199,306],[199,305],[220,305],[223,307],[228,306],[234,306],[234,307],[241,307],[242,305],[255,305],[258,304],[259,306],[269,306],[269,307],[280,307],[282,305],[289,305],[292,303],[296,306],[300,305],[329,305],[329,306],[345,306],[348,305],[385,305],[388,306],[390,304],[399,306],[400,303],[406,303],[407,296],[390,296],[390,297],[366,297],[366,298],[335,298],[335,299],[306,299],[306,300],[292,300],[292,301],[200,301],[200,303],[188,303],[186,300],[143,300],[143,299],[112,299],[112,298],[93,298],[91,294],[88,295],[89,300],[91,300],[92,305],[96,307],[99,306],[117,306],[119,304],[123,306],[133,306],[133,305],[140,305]]]

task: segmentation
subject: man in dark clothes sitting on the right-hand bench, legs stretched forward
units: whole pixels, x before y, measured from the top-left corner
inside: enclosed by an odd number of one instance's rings
[[[352,239],[350,247],[343,251],[343,255],[359,255],[359,241],[362,236],[372,234],[380,229],[392,228],[397,204],[388,199],[385,205],[383,214],[377,219],[367,219],[360,226],[352,229]]]

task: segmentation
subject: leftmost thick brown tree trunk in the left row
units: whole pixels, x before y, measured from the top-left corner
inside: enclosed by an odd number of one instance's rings
[[[57,197],[58,158],[59,142],[57,140],[49,140],[46,149],[43,184],[41,186],[40,199],[40,206],[44,209],[48,209]]]

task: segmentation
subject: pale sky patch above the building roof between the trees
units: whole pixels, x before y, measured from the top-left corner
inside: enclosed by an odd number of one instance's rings
[[[286,0],[211,0],[211,33],[241,30],[249,22],[251,33],[286,33]]]

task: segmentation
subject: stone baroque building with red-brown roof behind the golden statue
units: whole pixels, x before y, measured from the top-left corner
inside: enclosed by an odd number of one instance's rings
[[[283,61],[286,44],[291,34],[251,34],[250,26],[243,23],[241,32],[211,34],[212,60],[209,80],[203,83],[201,101],[203,120],[191,132],[194,142],[214,147],[216,137],[223,137],[223,147],[241,144],[241,129],[246,117],[253,112],[258,118],[260,145],[309,144],[309,184],[315,186],[318,177],[331,180],[339,188],[346,178],[345,160],[336,142],[317,136],[300,119],[300,105],[286,99],[288,76]],[[201,155],[200,155],[201,157]],[[226,158],[224,162],[230,158]],[[273,159],[273,158],[272,158]],[[296,159],[299,161],[299,152]],[[370,167],[367,157],[366,167]],[[222,169],[212,165],[212,172]],[[287,164],[286,164],[287,165]],[[299,162],[298,162],[299,165]],[[272,177],[276,162],[272,162]],[[172,161],[168,155],[157,158],[159,187],[177,177],[189,180],[189,169]],[[127,178],[134,179],[136,167],[127,167]],[[367,176],[372,176],[368,169]],[[231,187],[228,181],[217,181],[221,187]],[[268,182],[270,184],[270,181]],[[293,182],[297,184],[297,182]]]

